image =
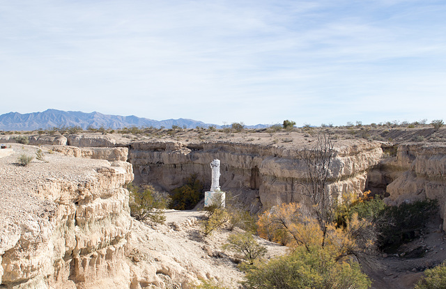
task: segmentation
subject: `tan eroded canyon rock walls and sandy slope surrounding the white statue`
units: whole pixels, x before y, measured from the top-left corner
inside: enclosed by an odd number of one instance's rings
[[[232,276],[229,285],[240,280],[228,258],[215,263],[223,254],[217,246],[190,253],[166,248],[175,236],[203,247],[187,235],[199,216],[171,226],[137,222],[130,217],[126,185],[150,183],[170,192],[197,175],[210,187],[209,164],[220,159],[222,190],[261,212],[301,201],[307,175],[300,152],[316,138],[298,132],[192,133],[31,135],[30,146],[0,136],[11,146],[0,155],[0,288],[190,288],[199,278]],[[38,148],[45,162],[15,164],[17,155]],[[339,198],[368,189],[391,205],[435,198],[446,219],[444,142],[339,138],[334,150],[328,190]]]

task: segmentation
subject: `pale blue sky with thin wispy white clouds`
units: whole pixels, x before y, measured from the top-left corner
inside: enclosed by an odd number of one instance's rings
[[[444,0],[0,0],[0,114],[446,120]]]

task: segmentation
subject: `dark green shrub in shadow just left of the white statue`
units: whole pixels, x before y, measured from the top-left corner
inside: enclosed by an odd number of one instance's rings
[[[203,185],[197,175],[191,175],[185,182],[172,191],[171,209],[192,210],[202,198]]]

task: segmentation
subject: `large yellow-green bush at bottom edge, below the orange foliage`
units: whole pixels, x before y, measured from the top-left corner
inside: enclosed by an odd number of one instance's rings
[[[329,250],[302,247],[287,256],[254,263],[243,285],[249,289],[369,288],[371,281],[357,263],[337,262]]]

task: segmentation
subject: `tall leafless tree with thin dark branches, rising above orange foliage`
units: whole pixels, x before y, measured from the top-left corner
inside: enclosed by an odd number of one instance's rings
[[[302,194],[307,196],[323,232],[322,247],[325,243],[328,225],[332,224],[336,204],[333,192],[327,188],[332,159],[336,157],[334,143],[327,134],[319,134],[312,148],[304,148],[298,153],[307,169],[306,183],[301,183]]]

